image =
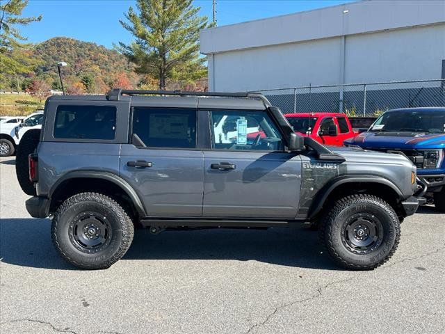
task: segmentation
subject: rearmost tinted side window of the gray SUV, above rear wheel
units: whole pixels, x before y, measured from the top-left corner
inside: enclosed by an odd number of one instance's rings
[[[115,106],[58,106],[54,138],[115,138]]]

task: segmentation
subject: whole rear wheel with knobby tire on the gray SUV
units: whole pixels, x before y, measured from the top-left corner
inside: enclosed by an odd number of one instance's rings
[[[115,200],[79,193],[58,207],[51,237],[58,253],[81,269],[106,269],[120,260],[133,241],[133,222]]]

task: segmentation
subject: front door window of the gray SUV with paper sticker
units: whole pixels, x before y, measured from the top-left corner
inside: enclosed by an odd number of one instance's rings
[[[212,148],[282,150],[282,135],[265,111],[211,111]]]

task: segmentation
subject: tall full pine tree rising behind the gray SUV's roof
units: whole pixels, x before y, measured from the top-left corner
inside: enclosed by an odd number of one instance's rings
[[[199,55],[200,31],[207,17],[192,0],[137,0],[138,13],[130,7],[120,20],[136,41],[119,42],[118,50],[136,64],[136,72],[149,74],[165,89],[167,79],[195,79],[205,75],[205,58]]]

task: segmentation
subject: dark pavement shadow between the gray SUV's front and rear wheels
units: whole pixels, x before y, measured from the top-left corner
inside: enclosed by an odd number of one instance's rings
[[[124,260],[255,260],[289,267],[334,269],[318,233],[301,226],[268,230],[138,230]]]

